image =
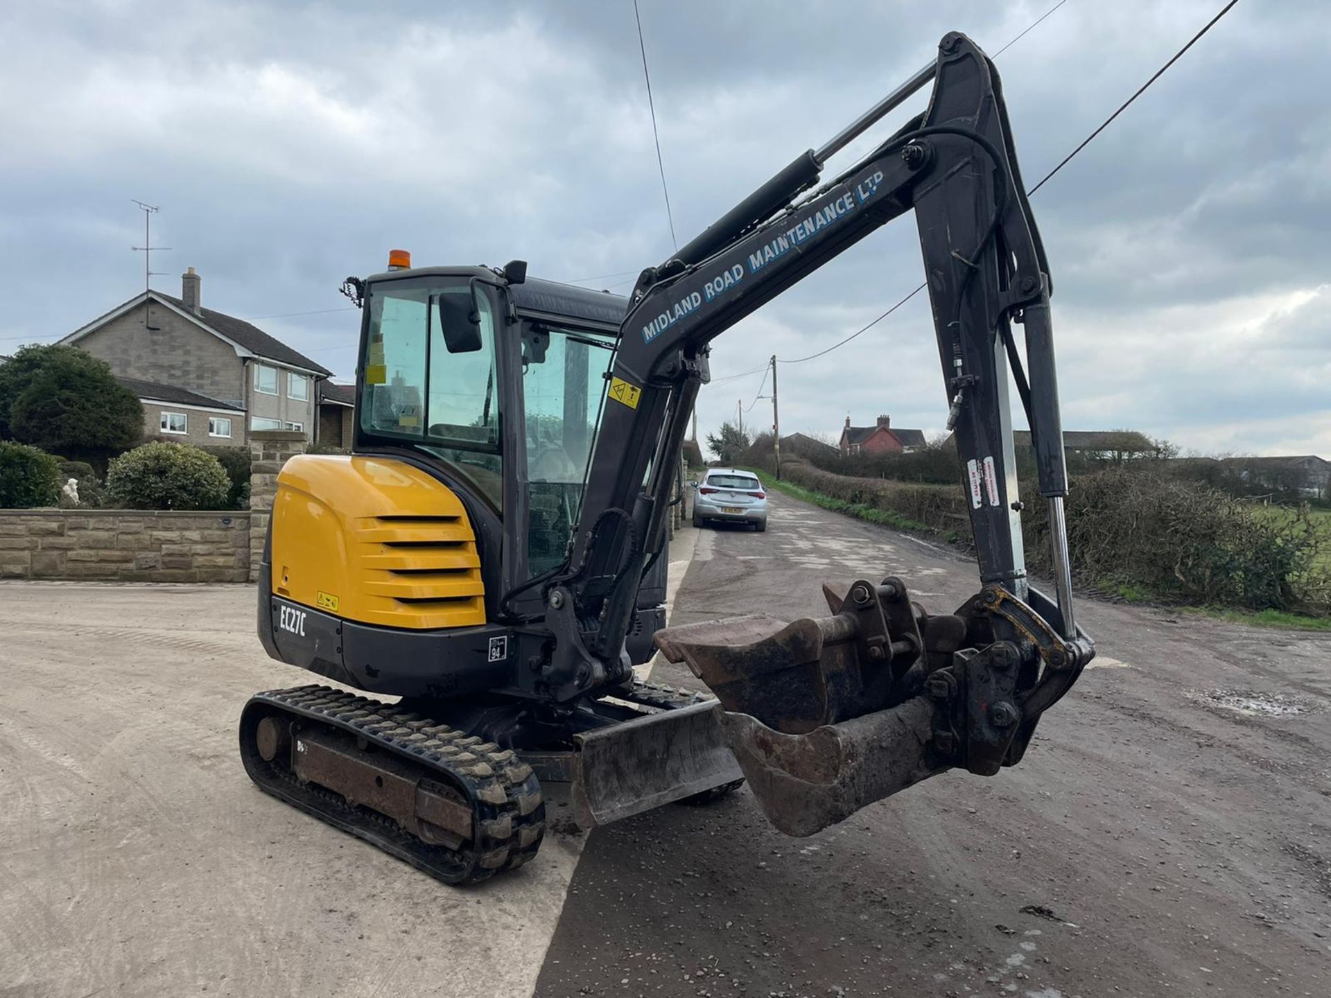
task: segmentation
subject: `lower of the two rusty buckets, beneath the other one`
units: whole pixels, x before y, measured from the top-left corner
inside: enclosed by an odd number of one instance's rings
[[[723,723],[768,821],[804,837],[948,769],[929,752],[933,715],[916,697],[808,735],[783,735],[745,713]]]

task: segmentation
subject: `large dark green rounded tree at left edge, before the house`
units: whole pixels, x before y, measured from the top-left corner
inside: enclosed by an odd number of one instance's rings
[[[77,347],[20,347],[0,366],[0,434],[105,467],[144,435],[144,407]]]

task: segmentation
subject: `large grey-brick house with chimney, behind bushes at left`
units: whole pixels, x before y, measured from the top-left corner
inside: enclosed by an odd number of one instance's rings
[[[201,283],[189,267],[181,275],[180,298],[156,290],[136,294],[60,342],[100,357],[120,378],[156,386],[145,389],[149,394],[173,386],[202,397],[204,411],[193,419],[190,410],[182,410],[182,432],[192,440],[198,439],[200,428],[206,430],[205,420],[228,418],[233,419],[234,444],[248,443],[250,430],[297,430],[314,439],[317,386],[331,371],[258,326],[202,307]],[[158,401],[172,403],[154,398],[153,407]],[[218,402],[233,415],[220,415],[221,410],[205,415]],[[172,423],[180,426],[178,419]],[[162,432],[156,427],[149,431]]]

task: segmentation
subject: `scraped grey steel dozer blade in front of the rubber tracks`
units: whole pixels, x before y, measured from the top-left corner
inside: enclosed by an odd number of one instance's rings
[[[575,735],[572,801],[604,825],[744,778],[715,700]]]

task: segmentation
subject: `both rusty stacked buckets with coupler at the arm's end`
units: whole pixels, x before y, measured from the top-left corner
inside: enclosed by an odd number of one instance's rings
[[[716,693],[740,769],[791,836],[952,766],[992,776],[1014,764],[1038,709],[1055,699],[1044,683],[1065,689],[1069,663],[1090,655],[1034,625],[1029,607],[997,587],[942,616],[912,603],[894,578],[824,585],[824,595],[831,617],[733,617],[655,639]],[[1013,621],[1024,640],[996,640],[996,621],[1000,637]]]

